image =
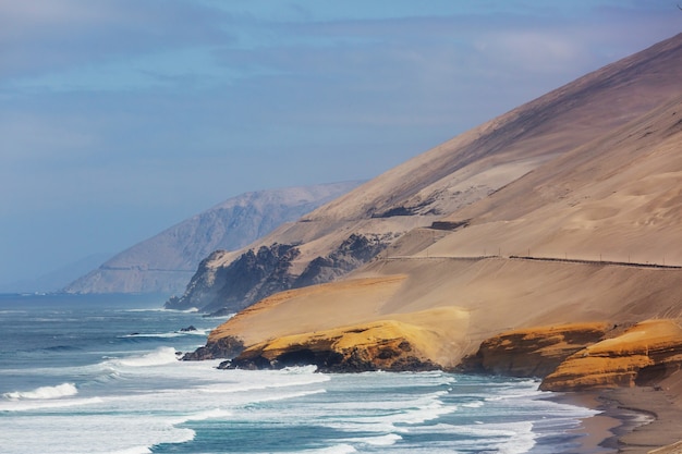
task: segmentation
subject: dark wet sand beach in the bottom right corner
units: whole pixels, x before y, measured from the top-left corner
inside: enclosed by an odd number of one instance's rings
[[[682,409],[647,386],[569,392],[550,397],[600,412],[582,420],[580,454],[682,454]]]

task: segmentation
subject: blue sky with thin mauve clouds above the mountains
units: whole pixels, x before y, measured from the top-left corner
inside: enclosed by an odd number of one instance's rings
[[[681,30],[668,0],[0,0],[0,287],[372,179]]]

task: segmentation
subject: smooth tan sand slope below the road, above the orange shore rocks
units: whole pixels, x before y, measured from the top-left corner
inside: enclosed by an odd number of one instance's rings
[[[439,307],[458,316],[421,315],[413,323],[450,323],[443,366],[511,328],[579,321],[613,323],[682,314],[682,270],[519,259],[389,259],[363,270],[364,279],[285,292],[267,298],[209,338],[242,338],[247,345],[283,335],[328,330]],[[372,275],[372,278],[369,278]]]

